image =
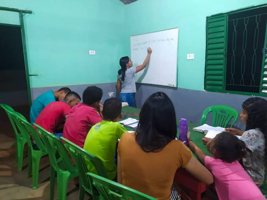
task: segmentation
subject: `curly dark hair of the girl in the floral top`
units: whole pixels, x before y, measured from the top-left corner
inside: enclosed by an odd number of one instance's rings
[[[248,113],[246,131],[259,128],[264,134],[265,144],[267,138],[267,101],[260,97],[248,98],[243,102],[242,108]],[[267,148],[264,151],[267,157]]]

